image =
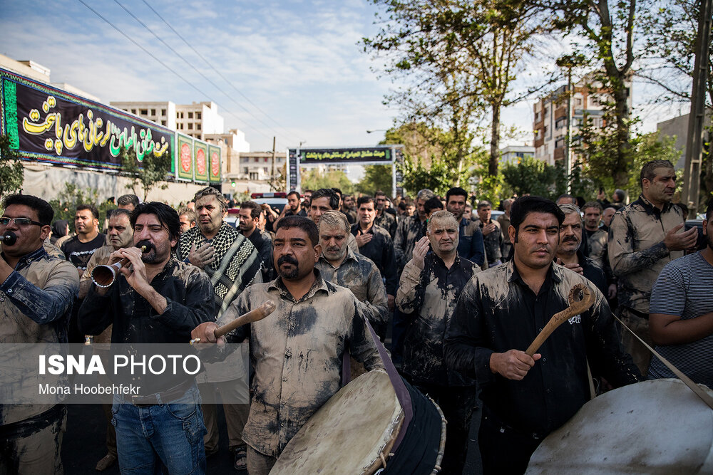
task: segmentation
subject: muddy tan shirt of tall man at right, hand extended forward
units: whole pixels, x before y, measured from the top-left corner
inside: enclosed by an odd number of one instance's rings
[[[660,211],[643,196],[614,215],[609,262],[619,279],[620,306],[647,318],[657,277],[667,263],[684,255],[684,251],[669,251],[663,242],[666,233],[679,224],[683,216],[678,207],[667,203]]]

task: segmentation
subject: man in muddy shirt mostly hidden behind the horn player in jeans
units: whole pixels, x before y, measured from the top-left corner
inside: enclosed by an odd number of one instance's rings
[[[109,256],[113,251],[118,249],[133,246],[133,228],[131,227],[131,213],[127,209],[115,209],[109,217],[106,246],[102,246],[92,254],[87,268],[79,279],[79,298],[85,298],[91,288],[91,273],[96,266],[102,266],[109,263]],[[111,343],[111,325],[104,330],[100,335],[94,337],[93,343]],[[106,358],[103,350],[94,348],[95,354]],[[103,359],[104,361],[104,359]],[[96,464],[97,471],[104,471],[116,463],[116,430],[111,425],[111,404],[101,404],[106,417],[106,450],[107,453]]]

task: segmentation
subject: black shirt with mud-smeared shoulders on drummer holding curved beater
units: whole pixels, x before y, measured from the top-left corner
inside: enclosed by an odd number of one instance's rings
[[[555,330],[540,347],[542,358],[521,381],[491,371],[493,353],[525,350],[552,315],[568,307],[568,294],[583,276],[552,264],[537,295],[513,262],[473,276],[456,303],[446,332],[446,362],[476,377],[481,400],[502,424],[544,437],[567,422],[590,399],[587,361],[615,387],[642,379],[624,353],[606,299]]]

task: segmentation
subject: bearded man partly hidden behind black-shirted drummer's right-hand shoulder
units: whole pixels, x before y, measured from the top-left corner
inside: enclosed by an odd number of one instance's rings
[[[557,246],[555,262],[560,266],[585,276],[601,293],[606,295],[607,281],[604,271],[593,259],[582,254],[582,218],[574,204],[560,204],[565,220],[560,225],[560,244]]]

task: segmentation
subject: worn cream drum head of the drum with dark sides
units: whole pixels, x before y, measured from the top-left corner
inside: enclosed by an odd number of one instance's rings
[[[284,447],[270,475],[373,474],[404,413],[389,376],[369,371],[342,387]]]

